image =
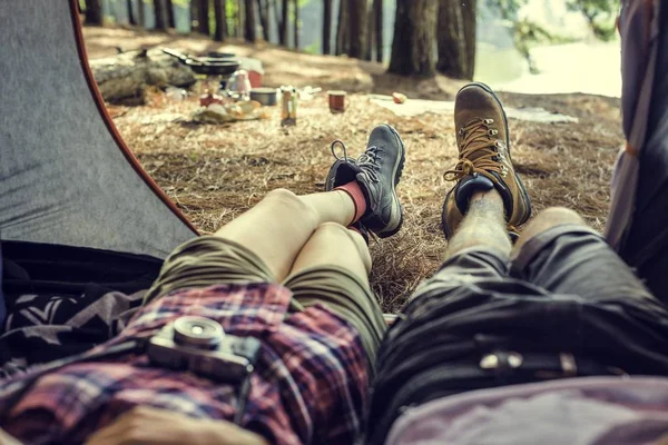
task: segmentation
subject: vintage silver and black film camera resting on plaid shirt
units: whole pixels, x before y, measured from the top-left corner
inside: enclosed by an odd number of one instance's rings
[[[184,316],[165,326],[147,345],[151,364],[240,384],[253,373],[259,340],[226,335],[219,323]]]

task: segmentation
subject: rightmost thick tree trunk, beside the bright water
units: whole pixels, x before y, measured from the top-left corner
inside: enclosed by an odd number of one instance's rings
[[[436,69],[454,79],[473,79],[475,0],[440,0]]]

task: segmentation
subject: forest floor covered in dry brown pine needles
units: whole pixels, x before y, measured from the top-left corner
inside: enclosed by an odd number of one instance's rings
[[[393,238],[371,244],[371,280],[384,309],[397,310],[418,283],[439,267],[446,246],[440,228],[441,206],[452,186],[442,176],[458,157],[452,116],[399,117],[372,103],[369,95],[401,91],[410,99],[453,100],[463,82],[444,77],[403,79],[385,75],[380,63],[268,44],[222,46],[204,37],[86,28],[85,38],[91,58],[114,55],[115,47],[235,52],[263,62],[265,86],[313,86],[350,93],[348,109],[342,115],[330,113],[325,93],[299,102],[297,126],[289,129],[279,126],[278,109],[264,120],[193,123],[188,117],[198,108],[197,99],[170,101],[159,90],[149,92],[144,106],[108,106],[145,169],[202,231],[215,230],[274,188],[297,194],[322,190],[333,161],[331,142],[342,139],[348,154],[356,156],[370,130],[387,122],[401,134],[407,159],[399,186],[405,208],[403,229]],[[612,164],[622,144],[619,100],[587,95],[499,96],[505,106],[542,107],[579,119],[578,123],[510,119],[512,156],[534,214],[550,206],[567,206],[601,230]],[[185,119],[177,119],[179,116]]]

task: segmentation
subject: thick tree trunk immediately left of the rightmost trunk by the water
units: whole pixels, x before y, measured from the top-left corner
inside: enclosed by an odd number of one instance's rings
[[[432,77],[439,0],[397,0],[389,72]]]

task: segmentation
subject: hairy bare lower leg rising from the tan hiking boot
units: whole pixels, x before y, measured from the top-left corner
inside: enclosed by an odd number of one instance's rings
[[[445,258],[470,247],[489,246],[509,255],[511,243],[505,227],[503,200],[497,190],[475,192],[469,204],[469,212],[454,234]]]

